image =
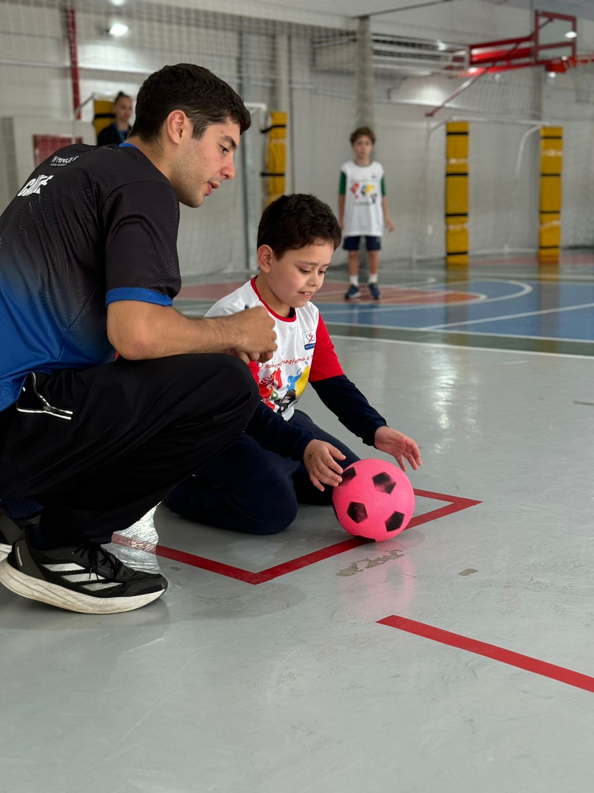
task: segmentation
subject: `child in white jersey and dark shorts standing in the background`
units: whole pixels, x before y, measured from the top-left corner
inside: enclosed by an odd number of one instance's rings
[[[389,232],[394,224],[388,213],[386,184],[381,163],[371,160],[375,135],[369,127],[359,127],[351,135],[355,160],[341,167],[341,184],[338,189],[338,224],[342,229],[343,246],[348,251],[348,286],[345,298],[361,297],[359,289],[359,244],[361,236],[367,241],[369,262],[369,293],[374,300],[381,294],[378,286],[379,249],[383,225]]]

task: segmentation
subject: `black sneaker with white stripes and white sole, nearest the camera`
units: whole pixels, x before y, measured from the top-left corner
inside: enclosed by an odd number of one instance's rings
[[[0,583],[17,595],[83,614],[117,614],[161,597],[167,580],[124,565],[97,545],[35,550],[28,532],[0,561]]]

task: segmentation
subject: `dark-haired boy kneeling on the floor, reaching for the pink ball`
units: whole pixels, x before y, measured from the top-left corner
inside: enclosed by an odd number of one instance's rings
[[[343,468],[359,458],[296,409],[308,382],[367,445],[392,454],[402,470],[405,458],[413,469],[421,465],[413,439],[387,427],[345,377],[310,302],[340,243],[336,217],[314,196],[281,196],[265,209],[257,237],[260,274],[206,316],[264,305],[276,320],[278,348],[268,362],[249,364],[261,401],[246,431],[169,493],[173,511],[211,526],[274,534],[295,520],[300,503],[331,504]]]

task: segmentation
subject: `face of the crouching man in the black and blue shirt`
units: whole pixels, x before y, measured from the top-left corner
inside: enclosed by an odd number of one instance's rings
[[[227,119],[211,125],[196,139],[191,136],[191,122],[186,121],[188,134],[182,136],[169,181],[182,204],[197,207],[221,182],[234,178],[239,125]]]

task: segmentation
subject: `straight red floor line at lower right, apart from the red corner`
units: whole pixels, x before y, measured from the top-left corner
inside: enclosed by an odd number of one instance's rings
[[[471,639],[467,636],[452,634],[449,630],[442,630],[432,625],[425,625],[425,623],[417,623],[413,619],[398,617],[395,614],[386,617],[386,619],[379,619],[378,624],[387,625],[390,628],[398,628],[398,630],[406,630],[409,634],[422,636],[423,638],[431,639],[433,642],[465,649],[469,653],[492,658],[493,661],[501,661],[503,664],[516,666],[519,669],[525,669],[527,672],[534,672],[535,675],[550,677],[551,680],[558,680],[560,683],[565,683],[574,688],[594,692],[594,677],[584,675],[581,672],[574,672],[573,669],[566,669],[563,666],[549,664],[546,661],[539,661],[538,658],[532,658],[529,655],[514,653],[511,649],[479,642],[477,639]]]

